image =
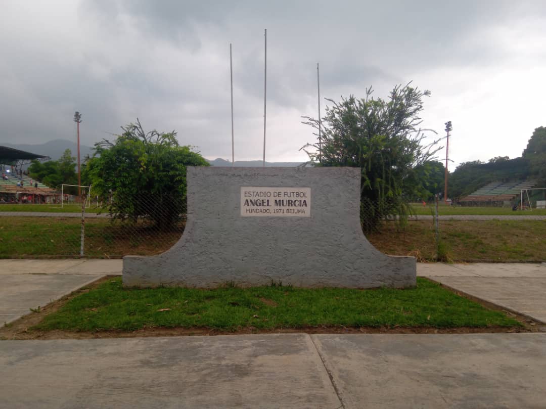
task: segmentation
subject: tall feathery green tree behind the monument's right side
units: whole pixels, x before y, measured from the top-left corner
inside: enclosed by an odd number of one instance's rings
[[[429,91],[396,86],[387,100],[366,97],[342,98],[322,118],[322,138],[304,149],[316,166],[349,166],[361,169],[361,220],[373,229],[386,216],[403,221],[410,211],[408,201],[420,193],[416,168],[432,159],[438,140],[423,144],[423,97]],[[304,117],[305,124],[318,129],[318,120]],[[316,134],[316,133],[315,133]],[[313,148],[311,150],[310,148]]]

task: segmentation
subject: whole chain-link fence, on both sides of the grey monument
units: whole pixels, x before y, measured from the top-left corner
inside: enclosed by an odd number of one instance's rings
[[[437,217],[435,200],[413,204],[393,198],[363,200],[361,226],[378,250],[419,261],[546,260],[546,220],[540,219],[546,219],[546,214],[527,212],[525,220],[514,215],[449,216],[458,214],[454,206],[440,203],[439,208]],[[186,223],[185,200],[169,194],[93,197],[83,215],[81,203],[65,204],[62,209],[58,204],[44,204],[39,211],[32,217],[28,217],[31,212],[3,212],[0,257],[151,256],[172,247]]]

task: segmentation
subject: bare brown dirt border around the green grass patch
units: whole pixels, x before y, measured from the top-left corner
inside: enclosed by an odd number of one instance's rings
[[[31,312],[21,317],[17,321],[4,325],[0,328],[0,340],[54,340],[54,339],[91,339],[91,338],[125,338],[125,337],[147,337],[147,336],[186,336],[186,335],[243,335],[243,334],[280,334],[280,333],[307,333],[307,334],[471,334],[471,333],[522,333],[539,332],[541,324],[524,316],[504,311],[514,319],[523,324],[523,327],[459,327],[459,328],[430,328],[430,327],[301,327],[301,328],[275,328],[275,329],[257,329],[254,327],[239,328],[235,331],[218,330],[212,328],[164,328],[149,327],[135,331],[63,331],[63,330],[31,330],[35,324],[38,324],[46,315],[49,315],[67,303],[68,300],[79,294],[91,291],[104,281],[112,277],[103,277],[92,284],[66,295],[65,297],[54,301],[37,312]],[[461,297],[467,297],[464,293],[456,292]],[[484,305],[489,309],[498,307],[485,303],[476,298],[473,301]],[[501,310],[503,311],[503,310]]]

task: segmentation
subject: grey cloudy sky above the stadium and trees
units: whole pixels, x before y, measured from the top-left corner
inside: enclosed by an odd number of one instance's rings
[[[109,137],[140,118],[207,158],[261,159],[268,29],[268,161],[304,161],[300,116],[321,94],[432,92],[424,126],[453,123],[454,165],[517,157],[546,125],[546,2],[3,0],[0,144]],[[323,106],[325,102],[323,102]],[[445,155],[445,151],[439,153]]]

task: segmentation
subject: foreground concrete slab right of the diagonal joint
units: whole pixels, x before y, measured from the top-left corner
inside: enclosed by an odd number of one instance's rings
[[[346,409],[546,407],[546,334],[311,337]]]

